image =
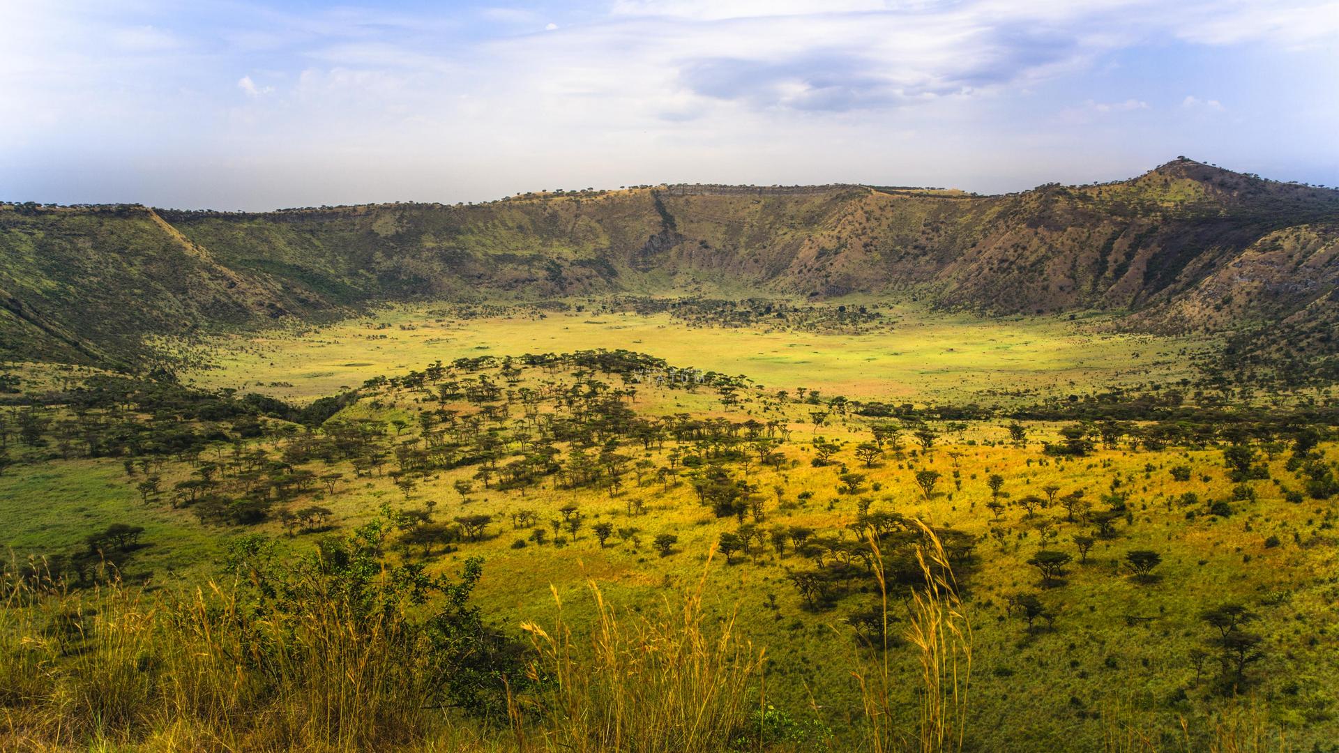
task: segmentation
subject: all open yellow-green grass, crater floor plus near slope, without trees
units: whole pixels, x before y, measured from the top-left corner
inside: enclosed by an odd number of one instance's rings
[[[437,359],[627,347],[675,364],[747,374],[767,391],[806,386],[821,389],[825,397],[986,402],[1002,391],[1044,395],[1119,383],[1165,383],[1189,374],[1186,360],[1176,355],[1180,348],[1200,347],[1188,340],[1106,336],[1056,319],[986,322],[916,308],[900,308],[897,323],[862,335],[690,330],[667,316],[609,312],[453,322],[430,314],[431,308],[399,307],[301,336],[218,340],[208,348],[221,367],[186,376],[205,386],[242,387],[303,401],[358,386],[374,375],[422,368]],[[375,323],[390,327],[378,330]],[[1138,359],[1134,352],[1139,352]],[[552,375],[526,375],[530,381],[548,378]],[[412,391],[386,390],[345,409],[344,417],[412,419],[420,409],[435,407],[435,402],[420,401],[422,395]],[[809,464],[813,456],[807,442],[821,434],[849,442],[837,460],[865,473],[866,486],[881,485],[877,492],[861,494],[873,498],[872,509],[951,525],[980,537],[979,564],[964,580],[969,596],[964,610],[973,628],[967,737],[983,750],[1101,749],[1111,729],[1130,720],[1138,720],[1141,729],[1153,734],[1174,737],[1181,734],[1177,730],[1185,720],[1196,730],[1196,745],[1208,740],[1204,736],[1216,724],[1212,714],[1221,701],[1208,691],[1205,679],[1196,679],[1190,657],[1208,636],[1200,611],[1228,602],[1248,604],[1263,616],[1257,630],[1268,636],[1268,659],[1255,670],[1260,683],[1253,698],[1264,699],[1264,724],[1287,728],[1297,749],[1339,737],[1339,698],[1332,690],[1339,678],[1339,653],[1334,650],[1339,623],[1331,608],[1335,591],[1330,575],[1339,568],[1331,527],[1335,512],[1332,502],[1307,500],[1297,505],[1283,500],[1283,486],[1300,485],[1296,474],[1284,468],[1285,453],[1269,460],[1271,474],[1281,486],[1252,481],[1257,498],[1236,502],[1237,515],[1188,520],[1186,508],[1169,506],[1169,498],[1184,492],[1196,492],[1204,500],[1225,498],[1235,486],[1217,449],[1098,449],[1091,457],[1058,462],[1046,458],[1039,445],[1056,438],[1058,425],[1028,423],[1030,443],[1019,448],[1008,443],[1003,422],[973,422],[960,433],[945,433],[932,453],[908,450],[904,458],[889,457],[877,468],[864,469],[852,448],[869,437],[868,422],[854,417],[837,418],[814,431],[807,423],[810,406],[790,405],[767,413],[761,397],[750,393],[744,405],[723,409],[708,390],[688,394],[645,385],[639,386],[632,407],[652,415],[692,413],[732,421],[789,421],[794,435],[782,452],[793,464],[781,472],[759,470],[755,478],[769,496],[765,527],[807,525],[837,532],[854,520],[856,498],[834,490],[841,466]],[[402,438],[416,433],[411,427]],[[1322,448],[1330,462],[1339,458],[1334,442]],[[664,453],[653,450],[651,460],[663,464]],[[1174,465],[1190,466],[1192,480],[1174,481],[1168,470]],[[327,470],[323,464],[313,468]],[[931,500],[913,481],[915,472],[924,468],[944,474],[943,493]],[[333,469],[352,477],[348,464],[335,464]],[[953,485],[955,472],[961,489]],[[187,473],[185,464],[169,462],[163,486]],[[424,564],[431,572],[454,572],[465,557],[482,556],[486,565],[475,594],[478,603],[513,630],[525,622],[542,623],[556,594],[565,604],[562,619],[580,634],[597,624],[601,615],[590,596],[592,581],[623,614],[651,611],[667,595],[695,583],[706,568],[703,619],[731,619],[734,630],[766,646],[771,702],[830,728],[837,749],[861,744],[865,710],[852,673],[878,658],[857,647],[844,619],[868,606],[873,595],[848,599],[832,611],[807,611],[786,580],[789,569],[807,565],[794,553],[763,551],[736,556],[728,565],[718,555],[707,567],[707,552],[735,523],[715,519],[698,504],[687,484],[663,490],[652,480],[639,488],[629,476],[625,492],[611,497],[603,490],[557,489],[545,482],[525,492],[481,489],[462,504],[453,482],[473,473],[474,468],[435,472],[408,500],[388,476],[372,476],[343,484],[333,496],[313,492],[292,504],[329,506],[340,528],[372,519],[386,504],[414,508],[427,500],[437,502],[437,515],[445,520],[465,513],[493,515],[490,539],[462,544],[451,555],[432,555]],[[1006,477],[1004,490],[1015,500],[1055,484],[1062,494],[1086,488],[1089,500],[1097,501],[1113,480],[1119,480],[1119,489],[1130,493],[1134,523],[1121,521],[1117,539],[1099,541],[1087,564],[1070,565],[1063,587],[1039,588],[1036,571],[1027,564],[1036,552],[1039,520],[1011,506],[996,524],[984,508],[990,500],[986,478],[992,473]],[[774,485],[782,486],[785,506],[771,497]],[[801,501],[806,492],[811,497]],[[645,515],[625,510],[629,494],[647,500]],[[577,540],[561,549],[552,544],[513,548],[513,541],[529,531],[513,531],[510,512],[534,509],[540,525],[546,527],[569,502],[588,517]],[[78,544],[90,529],[133,523],[146,527],[145,541],[150,544],[135,555],[133,569],[153,571],[162,580],[173,571],[208,569],[218,557],[221,541],[236,533],[204,527],[189,513],[163,506],[141,504],[114,460],[48,461],[0,477],[4,543],[20,553],[59,549]],[[1040,517],[1059,531],[1051,547],[1074,552],[1071,536],[1086,529],[1065,521],[1055,509]],[[608,547],[600,547],[592,527],[601,521],[639,528],[640,544],[616,536]],[[996,528],[1004,531],[1003,543],[991,536]],[[261,531],[281,536],[277,524]],[[649,545],[660,532],[679,536],[668,557]],[[1281,545],[1267,548],[1269,536],[1277,536]],[[285,537],[284,543],[303,551],[313,540],[312,535],[301,535]],[[1131,549],[1153,549],[1164,556],[1158,581],[1138,583],[1129,576],[1121,561]],[[416,549],[404,556],[419,560]],[[1054,631],[1028,632],[1018,616],[1007,612],[1007,598],[1024,591],[1038,592],[1056,614]],[[775,608],[767,604],[769,596],[775,598]],[[901,631],[909,619],[904,595],[890,595],[890,604],[902,620],[894,631]],[[1127,623],[1127,618],[1152,619]],[[916,653],[905,647],[888,654],[892,682],[886,707],[898,714],[897,729],[908,729],[916,720],[917,685],[911,678],[920,673],[917,661]],[[1202,674],[1212,671],[1210,665]],[[1166,744],[1161,749],[1180,748]]]

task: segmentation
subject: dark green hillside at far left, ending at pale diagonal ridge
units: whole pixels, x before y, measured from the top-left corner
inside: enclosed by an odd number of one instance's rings
[[[0,210],[0,303],[7,355],[108,364],[145,334],[320,304],[220,264],[142,206]]]

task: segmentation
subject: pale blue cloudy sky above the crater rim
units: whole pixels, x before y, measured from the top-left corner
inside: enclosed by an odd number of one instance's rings
[[[0,200],[1339,184],[1339,0],[0,0]]]

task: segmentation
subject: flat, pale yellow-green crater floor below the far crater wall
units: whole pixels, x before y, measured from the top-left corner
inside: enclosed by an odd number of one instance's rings
[[[1212,340],[1103,334],[1101,320],[981,319],[890,307],[869,334],[688,328],[670,315],[566,312],[451,320],[439,305],[398,305],[375,316],[293,334],[237,335],[206,350],[221,367],[191,374],[209,387],[311,399],[435,359],[627,348],[678,366],[746,374],[769,389],[894,402],[999,402],[1008,394],[1069,394],[1170,383],[1194,375],[1186,352]],[[376,324],[388,324],[378,330]],[[404,330],[402,327],[414,327]],[[383,338],[384,339],[380,339]],[[372,339],[376,338],[376,339]],[[272,386],[272,383],[280,386]],[[291,386],[285,386],[291,385]]]

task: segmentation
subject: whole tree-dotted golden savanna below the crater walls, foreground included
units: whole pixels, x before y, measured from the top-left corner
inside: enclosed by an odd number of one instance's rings
[[[1339,409],[1214,336],[584,296],[149,347],[7,370],[7,746],[1339,740]]]

